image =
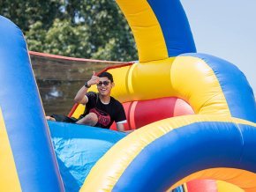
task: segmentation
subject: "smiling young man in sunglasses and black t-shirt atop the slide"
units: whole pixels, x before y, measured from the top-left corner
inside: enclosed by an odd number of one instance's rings
[[[98,93],[87,92],[91,85],[97,85]],[[86,105],[85,113],[76,123],[109,129],[111,124],[117,122],[117,129],[124,131],[126,121],[124,107],[110,96],[114,80],[109,72],[102,72],[99,76],[93,74],[92,78],[82,86],[75,97],[77,103]]]

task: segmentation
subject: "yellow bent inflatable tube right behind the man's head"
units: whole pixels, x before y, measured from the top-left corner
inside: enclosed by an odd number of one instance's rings
[[[200,58],[178,56],[109,72],[116,81],[112,95],[121,102],[178,97],[187,101],[196,114],[230,116],[214,71]],[[90,91],[97,92],[96,87]]]

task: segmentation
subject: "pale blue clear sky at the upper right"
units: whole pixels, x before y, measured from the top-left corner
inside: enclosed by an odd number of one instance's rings
[[[181,0],[199,53],[242,70],[256,94],[256,0]],[[255,56],[255,58],[254,58]]]

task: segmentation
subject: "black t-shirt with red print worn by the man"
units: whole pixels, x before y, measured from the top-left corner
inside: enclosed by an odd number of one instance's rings
[[[126,120],[124,107],[113,97],[110,97],[109,104],[103,104],[99,95],[95,92],[87,92],[88,102],[83,116],[94,112],[98,116],[96,127],[109,128],[115,122],[123,122]]]

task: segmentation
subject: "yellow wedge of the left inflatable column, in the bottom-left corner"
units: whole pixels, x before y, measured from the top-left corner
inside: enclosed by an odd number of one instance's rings
[[[0,107],[0,191],[21,191],[19,177]]]

